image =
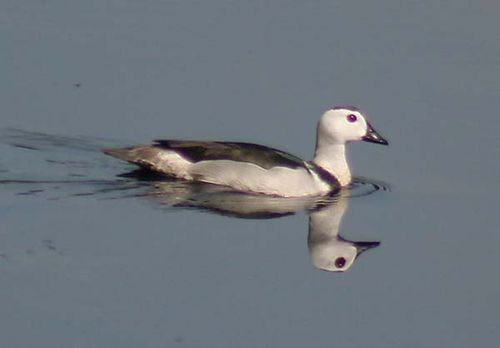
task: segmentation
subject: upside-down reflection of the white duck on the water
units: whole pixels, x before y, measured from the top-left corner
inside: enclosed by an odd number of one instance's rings
[[[155,180],[154,175],[140,170],[122,176]],[[348,271],[361,253],[380,244],[378,241],[353,241],[339,234],[351,195],[349,189],[326,197],[284,198],[234,192],[218,185],[158,180],[144,195],[166,207],[204,210],[245,219],[278,218],[305,211],[309,214],[307,245],[312,263],[329,272]]]

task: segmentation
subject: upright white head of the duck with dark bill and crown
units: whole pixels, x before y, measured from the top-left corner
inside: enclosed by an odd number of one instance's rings
[[[336,106],[323,114],[318,123],[318,142],[345,144],[357,140],[388,144],[355,107]]]

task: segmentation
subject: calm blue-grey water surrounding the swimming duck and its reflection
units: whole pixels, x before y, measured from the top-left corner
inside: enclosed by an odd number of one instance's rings
[[[499,11],[3,1],[0,346],[498,345]],[[192,138],[310,158],[336,104],[391,143],[349,153],[390,190],[326,205],[345,240],[380,241],[346,272],[315,266],[307,207],[175,208],[99,152]]]

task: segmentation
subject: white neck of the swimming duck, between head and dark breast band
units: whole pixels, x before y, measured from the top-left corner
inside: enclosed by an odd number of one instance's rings
[[[337,178],[340,185],[351,183],[351,170],[346,158],[345,144],[330,143],[318,139],[313,162]]]

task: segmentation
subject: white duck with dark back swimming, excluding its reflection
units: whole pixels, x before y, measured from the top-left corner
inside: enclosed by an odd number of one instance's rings
[[[173,179],[246,193],[307,197],[349,186],[352,174],[346,145],[353,141],[389,144],[357,107],[335,106],[319,119],[312,161],[268,146],[232,141],[160,139],[102,151]]]

